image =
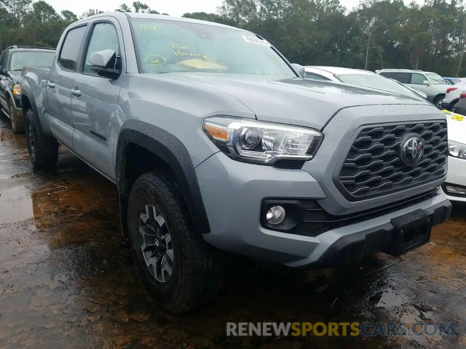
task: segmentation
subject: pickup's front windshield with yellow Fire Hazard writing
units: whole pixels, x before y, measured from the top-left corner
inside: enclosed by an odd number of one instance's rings
[[[141,73],[209,72],[296,77],[266,40],[239,29],[132,18]]]

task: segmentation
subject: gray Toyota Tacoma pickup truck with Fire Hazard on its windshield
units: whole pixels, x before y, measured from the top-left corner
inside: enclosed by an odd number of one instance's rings
[[[23,70],[31,161],[54,167],[62,144],[116,183],[137,268],[172,312],[215,296],[220,250],[323,268],[428,242],[451,211],[445,115],[302,74],[241,29],[88,17],[51,69]]]

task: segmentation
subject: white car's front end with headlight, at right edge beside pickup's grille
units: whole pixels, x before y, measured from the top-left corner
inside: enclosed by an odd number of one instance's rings
[[[461,98],[458,104],[466,102]],[[464,103],[466,112],[466,103]],[[466,117],[445,113],[448,122],[448,173],[442,189],[450,201],[466,202]]]

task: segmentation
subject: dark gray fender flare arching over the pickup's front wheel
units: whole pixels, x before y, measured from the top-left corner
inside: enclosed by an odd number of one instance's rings
[[[115,174],[120,195],[127,198],[128,182],[125,174],[127,154],[131,144],[149,150],[171,167],[185,196],[189,212],[199,233],[210,232],[209,221],[202,201],[194,166],[181,141],[157,126],[139,120],[125,121],[118,136]]]

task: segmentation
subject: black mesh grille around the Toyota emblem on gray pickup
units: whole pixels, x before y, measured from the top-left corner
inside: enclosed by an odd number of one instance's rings
[[[418,134],[424,140],[424,155],[414,166],[399,158],[406,134]],[[445,121],[367,127],[349,150],[337,187],[350,201],[390,194],[442,178],[446,158]]]

